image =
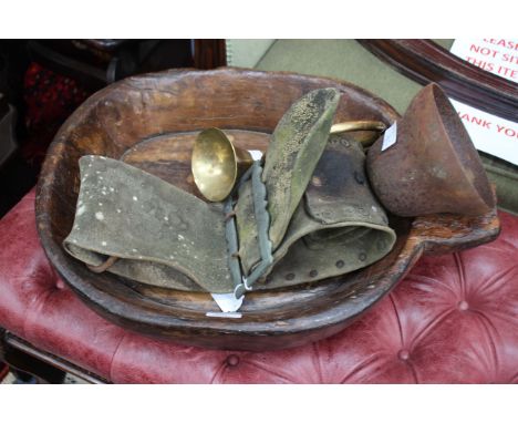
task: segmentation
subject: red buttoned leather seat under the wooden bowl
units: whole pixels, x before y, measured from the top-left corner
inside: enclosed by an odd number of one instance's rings
[[[518,218],[500,237],[425,257],[341,333],[273,352],[148,339],[86,308],[40,246],[34,193],[0,220],[0,327],[117,383],[510,383],[518,381]]]

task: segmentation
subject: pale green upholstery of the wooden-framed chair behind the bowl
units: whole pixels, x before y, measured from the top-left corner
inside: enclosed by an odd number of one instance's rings
[[[453,40],[434,40],[445,49]],[[403,114],[422,85],[398,73],[354,40],[277,40],[256,69],[335,78],[385,100]],[[480,153],[498,207],[518,215],[518,166]]]

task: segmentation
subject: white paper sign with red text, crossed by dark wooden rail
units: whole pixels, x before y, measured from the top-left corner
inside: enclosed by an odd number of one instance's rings
[[[518,40],[455,40],[452,53],[518,83]],[[518,165],[518,123],[450,100],[477,149]],[[516,121],[518,121],[518,111]]]

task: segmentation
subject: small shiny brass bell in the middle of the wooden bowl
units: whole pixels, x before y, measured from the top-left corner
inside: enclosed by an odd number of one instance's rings
[[[211,127],[196,137],[190,168],[204,197],[221,202],[252,163],[248,151],[234,146],[222,131]]]

